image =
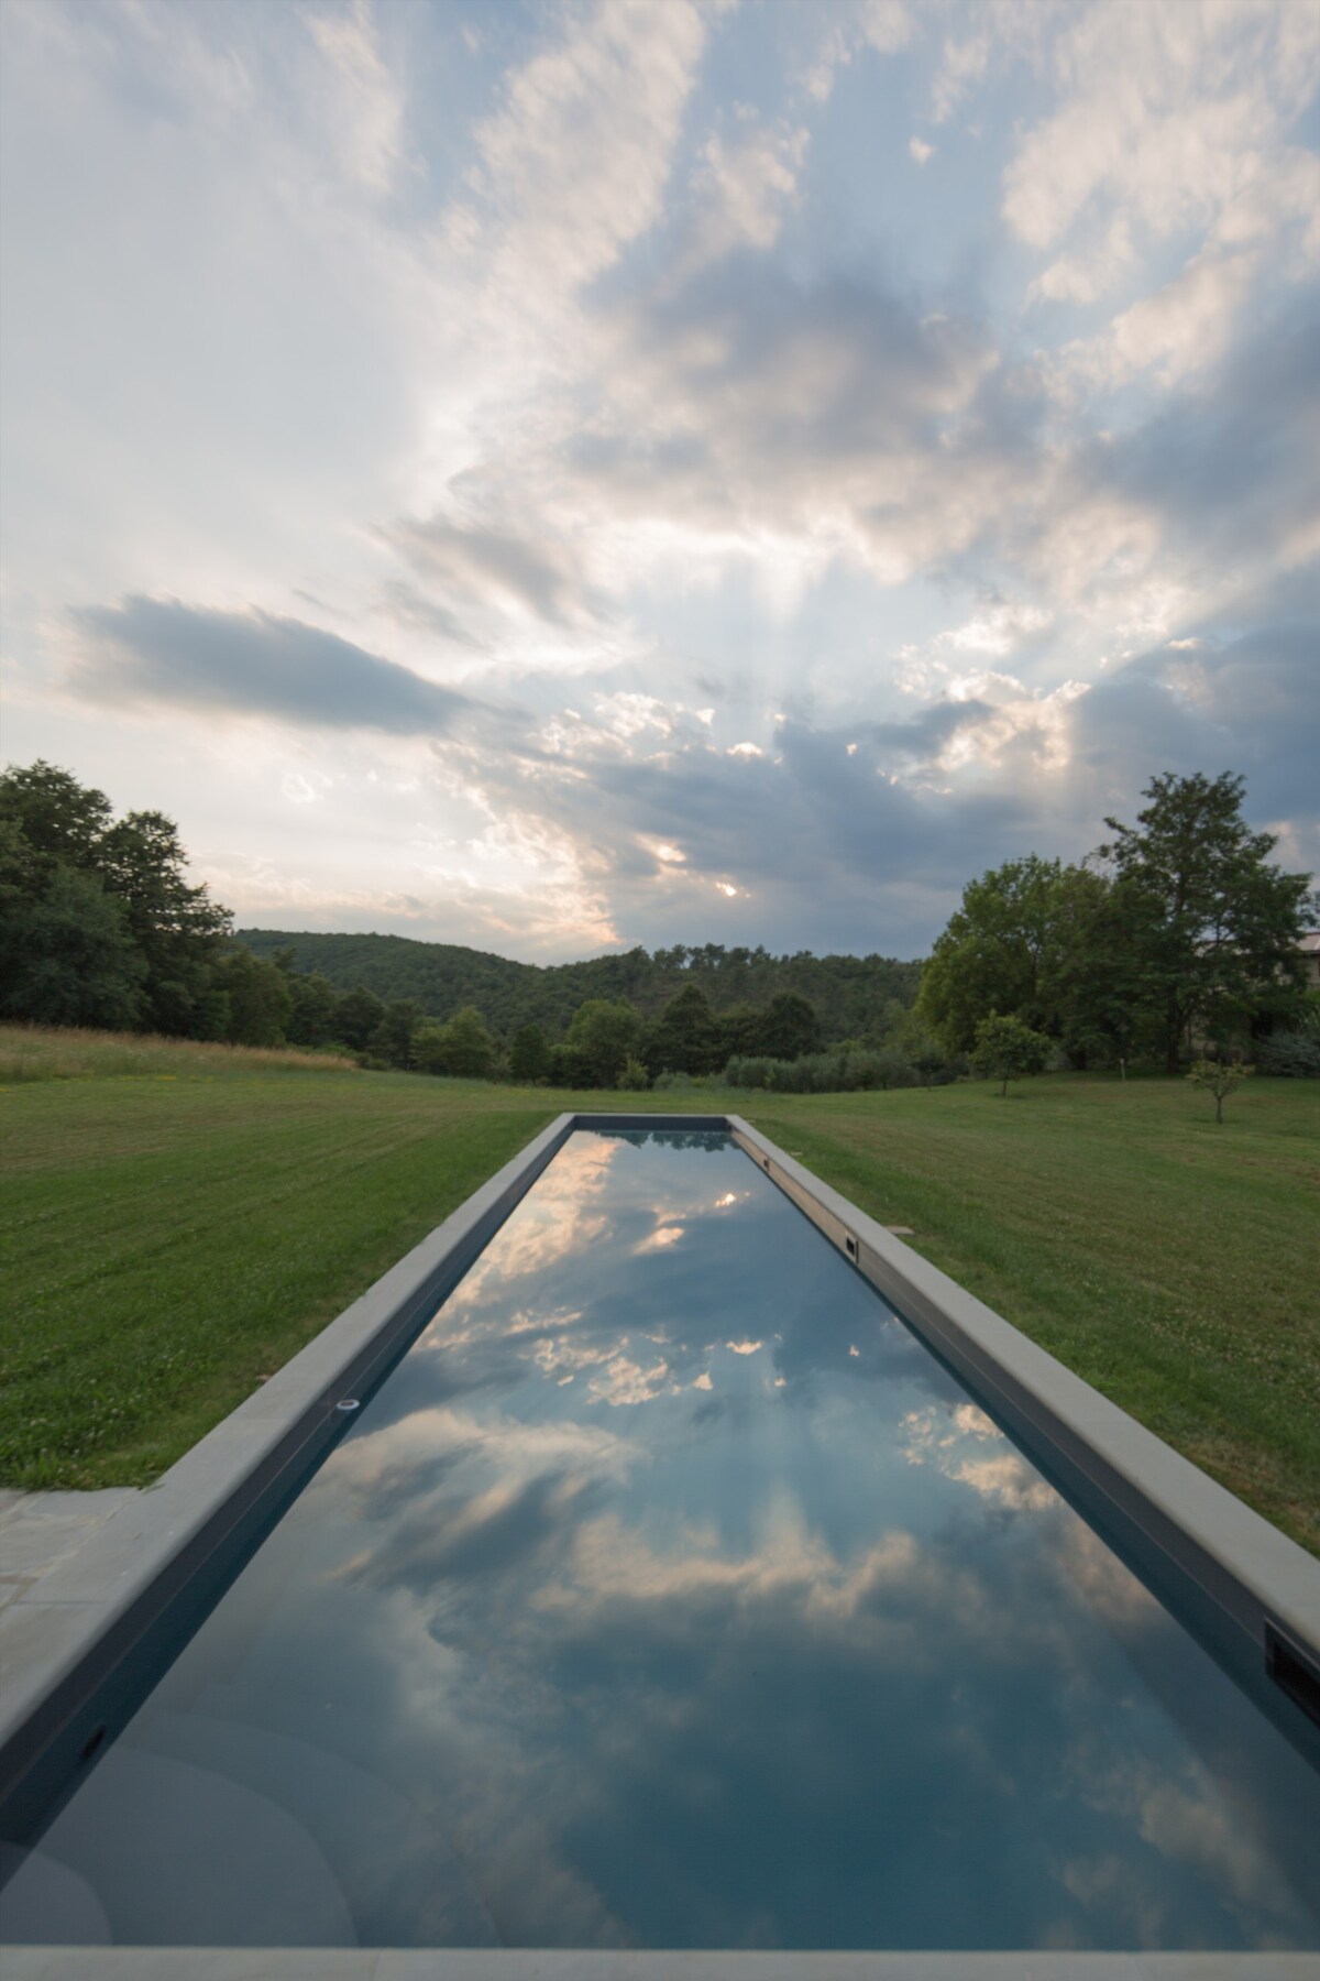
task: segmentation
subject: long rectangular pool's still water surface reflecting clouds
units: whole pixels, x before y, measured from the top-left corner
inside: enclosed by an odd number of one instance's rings
[[[1320,1947],[1320,1775],[716,1133],[578,1131],[0,1939]]]

